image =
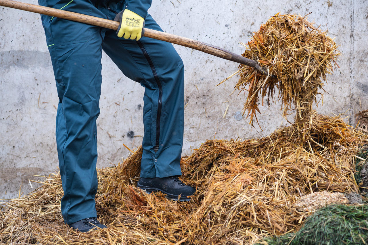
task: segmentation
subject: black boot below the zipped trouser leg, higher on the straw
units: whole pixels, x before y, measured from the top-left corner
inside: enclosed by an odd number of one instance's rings
[[[166,194],[166,198],[170,200],[179,200],[182,202],[190,201],[190,197],[196,191],[195,188],[185,185],[176,176],[165,178],[139,178],[137,187],[147,193],[152,191],[160,191]],[[180,195],[180,199],[178,196]]]

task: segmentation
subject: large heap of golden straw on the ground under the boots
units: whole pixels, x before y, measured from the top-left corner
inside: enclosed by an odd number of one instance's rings
[[[206,141],[182,158],[191,202],[146,194],[134,184],[141,149],[98,171],[96,208],[109,228],[80,234],[63,223],[59,174],[24,198],[2,203],[0,244],[250,244],[296,231],[306,219],[293,209],[312,192],[358,192],[354,155],[368,137],[338,117],[314,113],[304,140],[296,126],[243,142]],[[304,124],[306,125],[306,124]]]

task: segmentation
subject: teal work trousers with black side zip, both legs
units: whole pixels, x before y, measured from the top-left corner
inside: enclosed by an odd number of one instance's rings
[[[47,7],[114,19],[124,1],[39,0]],[[56,79],[56,141],[67,224],[96,217],[97,132],[102,50],[125,76],[144,88],[141,176],[180,175],[184,127],[184,66],[170,43],[41,15]],[[145,27],[162,31],[151,15]],[[108,80],[108,79],[107,79]],[[105,81],[109,82],[109,81]],[[124,87],[121,88],[124,95]]]

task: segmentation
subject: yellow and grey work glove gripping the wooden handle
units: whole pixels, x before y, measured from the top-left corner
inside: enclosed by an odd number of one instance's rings
[[[114,21],[120,22],[116,31],[119,38],[137,39],[138,41],[144,34],[144,18],[133,11],[125,8],[115,16]]]

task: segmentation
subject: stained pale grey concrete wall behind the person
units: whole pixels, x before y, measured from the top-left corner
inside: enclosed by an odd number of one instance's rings
[[[26,1],[36,4],[35,0]],[[368,1],[153,0],[149,10],[166,32],[238,54],[244,52],[239,43],[248,42],[251,32],[278,12],[311,13],[310,21],[315,20],[336,37],[343,53],[340,69],[328,76],[324,88],[330,95],[325,94],[318,111],[327,115],[347,111],[347,120],[354,123],[354,114],[368,109]],[[0,35],[0,198],[14,198],[21,183],[22,191],[31,190],[28,179],[38,179],[33,175],[57,170],[54,129],[58,99],[40,15],[0,7]],[[244,95],[231,94],[237,78],[215,87],[237,70],[237,64],[185,47],[175,48],[186,71],[184,155],[206,139],[254,138],[285,124],[279,105],[273,105],[270,110],[261,108],[263,131],[251,131],[247,119],[234,118],[245,100]],[[143,88],[125,78],[106,54],[102,64],[98,167],[127,157],[123,143],[134,149],[143,135]],[[130,131],[133,137],[128,136]]]

